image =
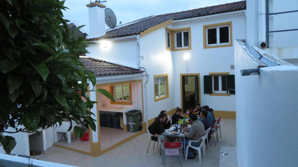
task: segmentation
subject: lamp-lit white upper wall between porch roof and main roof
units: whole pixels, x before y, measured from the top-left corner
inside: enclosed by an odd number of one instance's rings
[[[136,38],[104,41],[86,48],[86,56],[137,68]]]

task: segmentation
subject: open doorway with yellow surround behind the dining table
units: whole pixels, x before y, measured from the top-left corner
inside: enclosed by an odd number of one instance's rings
[[[200,102],[199,83],[199,74],[181,74],[181,107],[184,114]]]

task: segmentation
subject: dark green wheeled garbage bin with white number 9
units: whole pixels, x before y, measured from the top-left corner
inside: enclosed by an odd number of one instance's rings
[[[141,110],[131,110],[125,113],[129,132],[138,132],[142,130],[140,122],[142,122]]]

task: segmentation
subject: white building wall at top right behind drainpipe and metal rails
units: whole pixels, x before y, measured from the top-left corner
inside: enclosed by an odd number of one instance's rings
[[[260,0],[265,1],[265,0]],[[247,3],[247,45],[258,46],[259,42],[259,0],[249,0]],[[269,0],[269,13],[298,10],[297,0]],[[298,12],[269,16],[269,31],[297,29]],[[266,28],[266,27],[265,27]],[[285,48],[298,46],[298,31],[269,33],[270,48]]]

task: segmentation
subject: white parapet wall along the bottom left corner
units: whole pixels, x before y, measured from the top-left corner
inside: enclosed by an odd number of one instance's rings
[[[14,155],[0,154],[0,166],[28,166],[29,159]],[[42,160],[30,159],[33,167],[76,167],[60,163],[47,162]]]

